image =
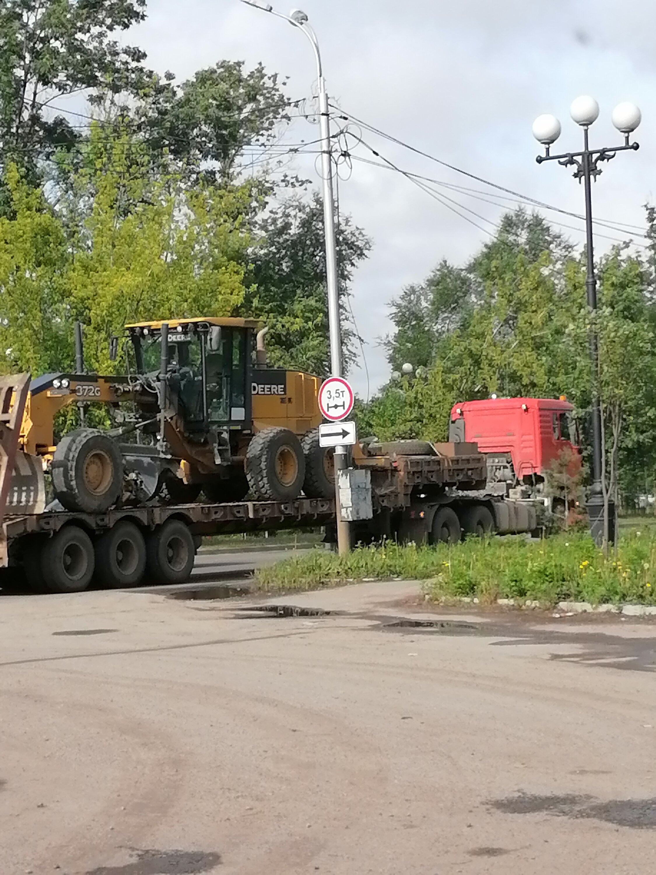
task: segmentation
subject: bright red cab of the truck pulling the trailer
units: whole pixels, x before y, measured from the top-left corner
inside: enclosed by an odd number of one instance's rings
[[[486,398],[451,409],[450,440],[478,444],[489,456],[512,458],[517,482],[544,479],[562,451],[581,461],[570,436],[572,405],[553,398]],[[500,461],[500,458],[499,458]]]

